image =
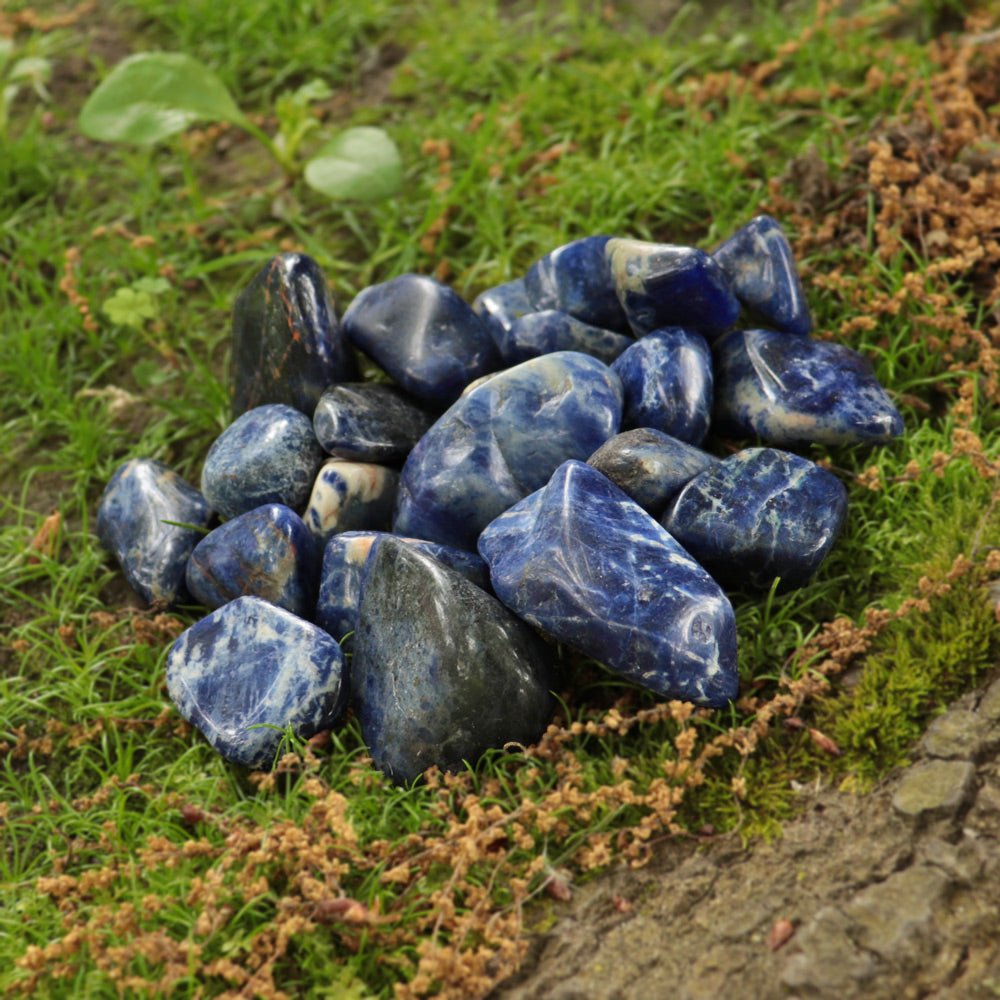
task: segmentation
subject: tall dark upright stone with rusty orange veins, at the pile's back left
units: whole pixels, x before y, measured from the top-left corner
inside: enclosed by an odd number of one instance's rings
[[[272,258],[233,307],[233,417],[264,403],[311,414],[323,390],[356,376],[326,280],[311,257]]]

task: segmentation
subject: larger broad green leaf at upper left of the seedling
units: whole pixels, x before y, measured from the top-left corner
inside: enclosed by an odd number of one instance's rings
[[[198,121],[241,122],[225,84],[180,52],[142,52],[120,62],[80,112],[84,135],[102,142],[159,142]]]

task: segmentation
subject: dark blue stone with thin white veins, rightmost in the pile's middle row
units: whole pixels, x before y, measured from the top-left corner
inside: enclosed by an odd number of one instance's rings
[[[847,491],[815,462],[747,448],[695,476],[663,518],[666,529],[720,583],[801,587],[830,551]]]

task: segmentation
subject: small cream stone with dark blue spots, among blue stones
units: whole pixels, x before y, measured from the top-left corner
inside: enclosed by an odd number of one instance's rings
[[[331,458],[316,476],[306,526],[321,545],[341,531],[381,531],[389,527],[399,473],[370,462]]]

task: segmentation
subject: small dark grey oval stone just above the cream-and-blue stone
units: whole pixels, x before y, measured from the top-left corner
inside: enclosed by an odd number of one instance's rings
[[[402,462],[434,418],[398,389],[344,382],[320,397],[316,439],[328,455],[355,462]]]

